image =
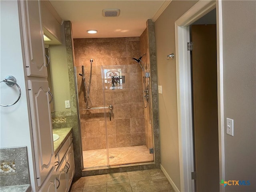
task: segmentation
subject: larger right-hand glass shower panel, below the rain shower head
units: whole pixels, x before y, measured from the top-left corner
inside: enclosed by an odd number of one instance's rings
[[[102,79],[109,165],[153,161],[145,139],[141,69],[138,65],[102,66]]]

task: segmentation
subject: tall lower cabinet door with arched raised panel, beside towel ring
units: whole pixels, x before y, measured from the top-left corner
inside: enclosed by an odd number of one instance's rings
[[[38,186],[54,167],[52,120],[48,97],[48,81],[28,80],[36,178]]]

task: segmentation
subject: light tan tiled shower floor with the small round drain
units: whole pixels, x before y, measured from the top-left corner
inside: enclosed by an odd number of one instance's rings
[[[145,145],[132,147],[110,148],[109,165],[130,164],[153,161],[153,154],[149,153]],[[84,168],[106,166],[106,149],[83,151]]]

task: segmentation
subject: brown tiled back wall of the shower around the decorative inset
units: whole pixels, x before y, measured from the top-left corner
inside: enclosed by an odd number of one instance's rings
[[[142,96],[142,72],[132,57],[140,57],[140,38],[87,38],[74,39],[75,66],[78,79],[78,95],[81,121],[82,150],[145,145],[145,122]],[[101,66],[120,66],[125,76],[124,88],[105,90],[105,104],[113,106],[110,121],[106,110],[81,110],[86,108],[82,92],[82,65],[85,66],[86,85],[92,62],[90,100],[92,107],[104,106]],[[108,67],[110,66],[110,67]]]

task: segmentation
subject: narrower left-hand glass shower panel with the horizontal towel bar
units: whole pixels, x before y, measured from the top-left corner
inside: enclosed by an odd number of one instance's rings
[[[89,82],[90,66],[84,66],[84,75],[82,74],[82,66],[75,67],[84,168],[108,166],[109,164],[106,147],[106,110],[102,90],[102,73],[100,70],[96,70],[96,67],[92,66],[89,94],[92,105],[90,108],[86,106],[84,93],[84,84],[88,86]],[[88,97],[87,94],[86,97]]]

